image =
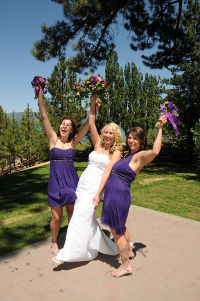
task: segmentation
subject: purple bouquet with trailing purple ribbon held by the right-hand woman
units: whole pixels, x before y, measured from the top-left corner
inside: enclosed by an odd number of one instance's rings
[[[173,128],[175,129],[176,136],[178,136],[179,131],[177,129],[176,123],[177,124],[182,124],[182,122],[178,119],[179,114],[178,114],[178,109],[177,107],[173,104],[172,101],[166,101],[165,103],[160,105],[160,112],[167,116],[167,119],[171,122],[173,125]],[[161,121],[158,121],[155,125],[157,129],[160,127]]]

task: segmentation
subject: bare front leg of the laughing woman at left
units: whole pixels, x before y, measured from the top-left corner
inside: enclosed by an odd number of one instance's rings
[[[51,236],[52,236],[52,251],[58,250],[58,233],[60,231],[60,225],[63,215],[63,207],[51,207],[52,220],[50,224]]]

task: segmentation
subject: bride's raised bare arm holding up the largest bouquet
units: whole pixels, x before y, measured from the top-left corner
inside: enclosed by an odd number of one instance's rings
[[[96,119],[96,111],[99,109],[101,100],[97,98],[97,94],[92,95],[90,97],[91,107],[90,107],[90,114],[89,114],[89,126],[90,126],[90,135],[92,139],[92,143],[94,145],[94,149],[100,143],[100,136],[97,132],[95,119]],[[97,105],[97,102],[99,105]]]

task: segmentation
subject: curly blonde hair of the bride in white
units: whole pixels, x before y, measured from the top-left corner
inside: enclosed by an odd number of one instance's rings
[[[122,132],[120,130],[120,127],[114,123],[114,122],[111,122],[111,123],[108,123],[106,124],[102,129],[101,129],[101,134],[100,134],[100,145],[103,147],[104,146],[104,139],[103,139],[103,134],[105,132],[105,129],[107,126],[110,126],[113,130],[113,133],[114,133],[114,136],[115,136],[115,141],[113,143],[113,145],[111,145],[110,149],[109,149],[109,153],[110,154],[113,154],[114,151],[116,150],[120,150],[122,149]]]

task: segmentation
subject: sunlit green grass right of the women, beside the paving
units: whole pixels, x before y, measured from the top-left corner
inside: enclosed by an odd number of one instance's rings
[[[193,173],[152,175],[145,170],[132,184],[132,204],[200,221],[200,182]]]

